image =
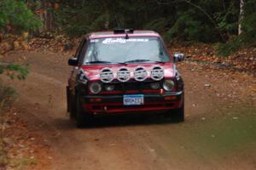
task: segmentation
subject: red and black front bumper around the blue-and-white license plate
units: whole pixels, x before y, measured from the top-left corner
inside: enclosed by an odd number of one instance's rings
[[[183,105],[183,91],[165,94],[143,94],[143,105],[123,105],[123,94],[83,96],[83,109],[89,114],[167,111]]]

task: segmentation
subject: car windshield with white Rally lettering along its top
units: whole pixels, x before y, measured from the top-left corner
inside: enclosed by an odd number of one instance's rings
[[[91,39],[84,57],[84,65],[169,61],[158,37]]]

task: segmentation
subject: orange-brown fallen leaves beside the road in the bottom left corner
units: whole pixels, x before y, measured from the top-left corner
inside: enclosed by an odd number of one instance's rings
[[[6,116],[3,142],[7,150],[7,169],[48,169],[49,145],[20,120],[19,114],[12,109]]]

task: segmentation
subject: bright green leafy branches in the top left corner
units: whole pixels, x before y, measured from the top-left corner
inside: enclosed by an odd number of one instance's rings
[[[19,0],[0,0],[0,31],[12,27],[15,33],[34,31],[41,26],[41,21]]]

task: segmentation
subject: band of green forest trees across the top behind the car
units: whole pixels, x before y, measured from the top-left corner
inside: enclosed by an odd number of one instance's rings
[[[0,31],[8,27],[36,30],[41,25],[32,10],[39,9],[51,16],[49,19],[43,14],[44,24],[53,22],[55,31],[70,37],[117,27],[148,29],[160,32],[167,41],[228,42],[218,51],[229,54],[255,43],[256,0],[245,2],[243,33],[239,37],[237,0],[0,0]]]

